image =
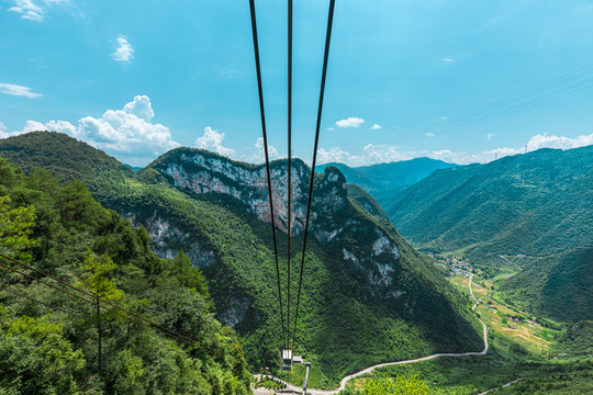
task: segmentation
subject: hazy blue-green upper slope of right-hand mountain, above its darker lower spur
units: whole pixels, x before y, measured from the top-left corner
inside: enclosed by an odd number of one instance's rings
[[[477,261],[591,246],[593,146],[437,170],[379,202],[417,246]]]

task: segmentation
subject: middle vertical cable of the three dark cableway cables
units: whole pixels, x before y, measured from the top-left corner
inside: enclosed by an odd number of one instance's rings
[[[287,338],[290,339],[290,228],[291,228],[291,211],[292,211],[292,0],[288,0],[288,281],[287,281],[287,323],[288,334]],[[288,346],[288,345],[287,345]]]

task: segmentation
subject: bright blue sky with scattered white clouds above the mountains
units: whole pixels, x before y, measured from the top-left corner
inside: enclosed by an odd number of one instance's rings
[[[294,155],[311,161],[327,3],[294,2]],[[286,2],[256,0],[272,157]],[[262,158],[247,0],[0,0],[0,137],[68,133],[143,166]],[[592,0],[337,0],[321,162],[467,163],[593,144]]]

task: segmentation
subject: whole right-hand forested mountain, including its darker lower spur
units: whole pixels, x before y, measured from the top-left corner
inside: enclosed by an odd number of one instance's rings
[[[524,307],[591,319],[592,158],[593,146],[540,149],[437,170],[380,202],[418,247],[490,266],[515,257],[523,271],[504,290]]]

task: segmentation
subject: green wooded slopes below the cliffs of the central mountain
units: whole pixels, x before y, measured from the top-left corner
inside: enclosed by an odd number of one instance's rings
[[[26,140],[26,136],[21,138]],[[53,169],[59,174],[61,159],[53,156],[52,145],[67,144],[69,151],[76,151],[80,143],[74,139],[63,142],[63,137],[55,138],[56,135],[48,137],[42,149],[29,156],[41,156],[43,160],[53,158]],[[2,146],[5,142],[10,139],[0,142],[2,154],[5,153]],[[18,162],[26,162],[26,156],[16,159]],[[114,163],[114,169],[119,169],[118,163]],[[89,177],[86,180],[107,206],[133,215],[137,223],[149,221],[155,215],[168,218],[178,229],[190,235],[187,242],[213,251],[216,263],[204,268],[204,273],[210,280],[219,312],[232,307],[237,301],[248,301],[250,305],[245,318],[236,326],[243,337],[246,357],[256,365],[273,365],[281,341],[269,227],[248,214],[234,199],[178,191],[152,169],[141,171],[137,177],[124,176],[122,182],[118,178],[97,180]],[[102,188],[109,183],[115,184],[111,188],[115,193]],[[355,204],[347,205],[333,219],[353,217],[365,223],[370,234],[373,227],[387,228],[385,224],[376,222]],[[437,275],[434,264],[411,248],[393,226],[387,230],[400,246],[402,255],[395,262],[399,273],[395,281],[407,290],[409,295],[401,302],[369,298],[359,286],[361,279],[353,274],[340,258],[344,244],[321,246],[310,241],[296,351],[315,362],[315,385],[331,386],[343,374],[376,362],[424,356],[437,350],[481,348],[466,301]],[[362,248],[371,242],[365,239],[367,234],[351,236],[343,242]],[[301,242],[298,237],[293,240],[294,258],[299,256]],[[179,241],[179,247],[183,247],[182,241]],[[286,249],[283,245],[279,248],[280,251]],[[292,286],[295,290],[295,283]],[[414,313],[409,314],[404,304],[412,301],[415,301]]]

